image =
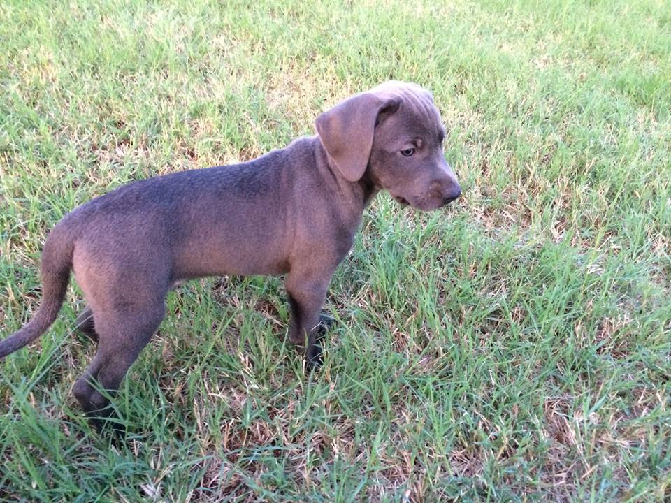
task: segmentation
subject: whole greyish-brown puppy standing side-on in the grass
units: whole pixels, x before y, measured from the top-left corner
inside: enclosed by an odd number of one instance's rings
[[[417,85],[387,82],[315,125],[317,136],[254,161],[141,180],[67,214],[44,245],[41,306],[0,358],[51,325],[73,270],[89,303],[78,321],[99,342],[73,389],[89,416],[109,413],[98,389],[118,388],[183,279],[287,274],[289,340],[312,363],[331,275],[377,191],[427,211],[461,194],[438,110]]]

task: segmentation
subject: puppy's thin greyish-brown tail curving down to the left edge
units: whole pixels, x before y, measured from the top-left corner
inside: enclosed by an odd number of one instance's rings
[[[73,241],[66,226],[55,226],[42,251],[42,301],[32,319],[0,341],[0,358],[36,340],[54,322],[65,298],[72,268]]]

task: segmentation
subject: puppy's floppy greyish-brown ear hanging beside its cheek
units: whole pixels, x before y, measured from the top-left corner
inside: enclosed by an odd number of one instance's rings
[[[341,101],[317,117],[319,140],[347,180],[356,182],[366,171],[380,114],[396,112],[400,105],[400,98],[366,92]]]

